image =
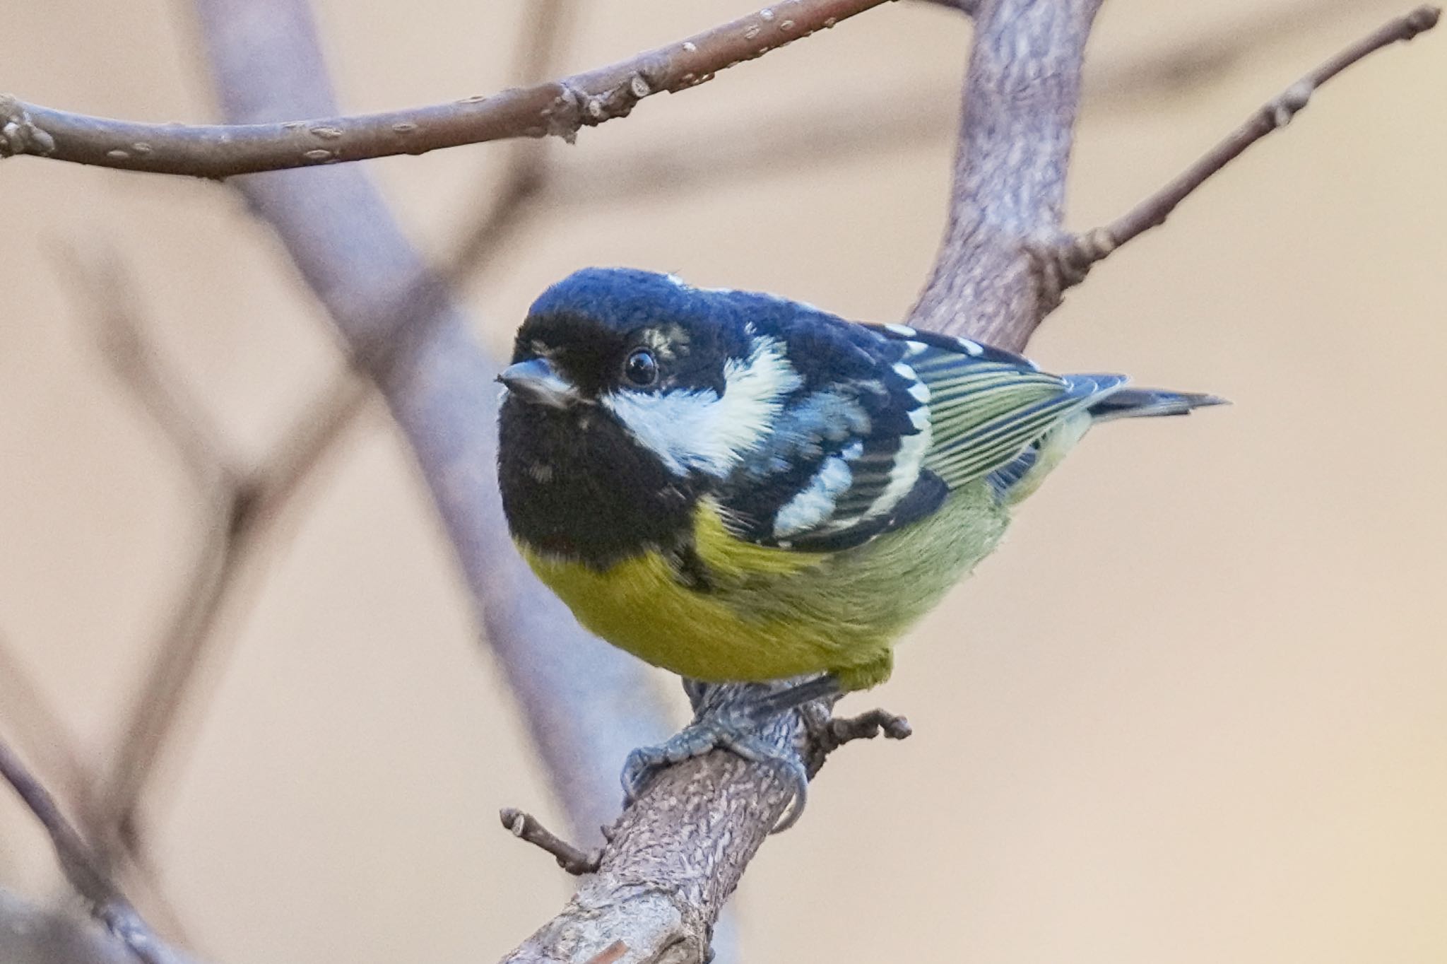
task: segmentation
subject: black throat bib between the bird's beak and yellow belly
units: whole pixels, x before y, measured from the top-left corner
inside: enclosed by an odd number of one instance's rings
[[[609,413],[508,397],[499,433],[502,511],[530,549],[602,570],[692,543],[696,483],[669,472]]]

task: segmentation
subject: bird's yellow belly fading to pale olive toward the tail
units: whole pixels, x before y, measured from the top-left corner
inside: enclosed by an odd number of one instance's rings
[[[894,641],[994,549],[1006,521],[971,486],[857,549],[799,553],[734,538],[703,502],[695,546],[709,591],[680,582],[660,553],[599,572],[521,550],[579,622],[654,666],[708,682],[832,672],[864,689],[888,677]]]

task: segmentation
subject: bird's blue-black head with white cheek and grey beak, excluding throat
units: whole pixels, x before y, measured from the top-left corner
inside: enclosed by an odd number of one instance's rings
[[[671,275],[587,268],[548,288],[518,330],[504,420],[622,430],[674,476],[725,476],[802,385],[755,324],[777,300],[706,291]]]

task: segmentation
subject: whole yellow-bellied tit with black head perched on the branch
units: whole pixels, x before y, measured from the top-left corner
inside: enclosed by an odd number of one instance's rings
[[[629,793],[718,745],[774,758],[780,711],[887,679],[1094,423],[1221,401],[603,268],[532,304],[499,381],[504,511],[579,622],[696,680],[813,676],[638,751]]]

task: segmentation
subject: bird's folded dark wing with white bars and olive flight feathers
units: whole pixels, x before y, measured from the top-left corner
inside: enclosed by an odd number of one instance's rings
[[[841,326],[842,329],[842,326]],[[750,541],[833,551],[923,518],[951,489],[1022,473],[1062,418],[1120,376],[1058,376],[1019,355],[904,326],[790,340],[805,388],[719,492]]]

